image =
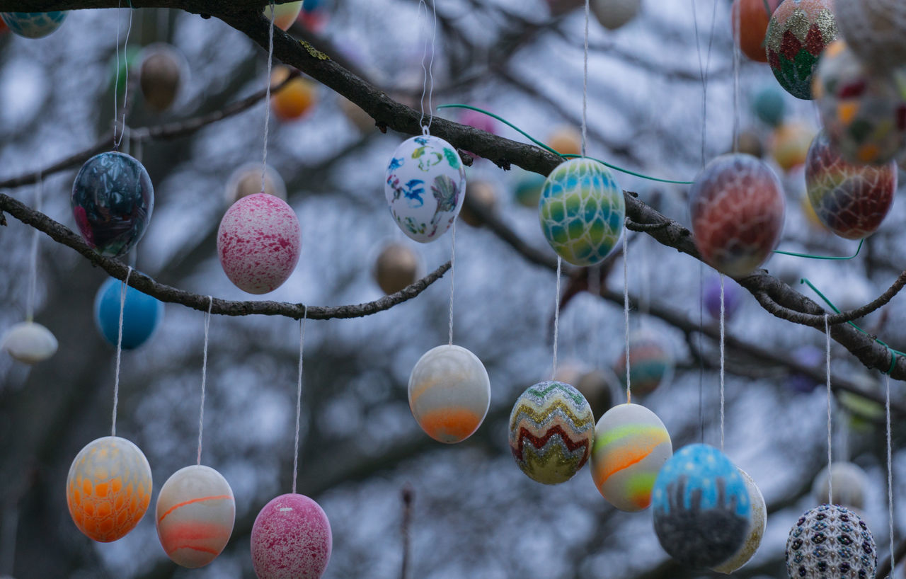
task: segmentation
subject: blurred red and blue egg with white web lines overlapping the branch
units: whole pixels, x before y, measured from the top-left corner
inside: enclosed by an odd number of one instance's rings
[[[712,159],[689,190],[695,245],[709,265],[731,277],[752,273],[770,256],[785,211],[779,179],[751,155]]]

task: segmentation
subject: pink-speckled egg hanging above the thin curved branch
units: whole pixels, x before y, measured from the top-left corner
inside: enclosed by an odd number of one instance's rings
[[[217,231],[217,254],[226,277],[249,294],[267,294],[283,285],[301,248],[293,208],[265,193],[236,201]]]

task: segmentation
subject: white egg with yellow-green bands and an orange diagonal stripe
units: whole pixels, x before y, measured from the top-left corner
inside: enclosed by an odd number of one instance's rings
[[[594,428],[592,478],[607,502],[622,511],[651,505],[651,487],[672,456],[670,433],[657,415],[638,404],[620,404]]]

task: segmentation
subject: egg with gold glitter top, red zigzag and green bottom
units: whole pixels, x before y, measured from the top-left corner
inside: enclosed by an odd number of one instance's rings
[[[797,99],[812,99],[812,74],[837,37],[834,0],[784,0],[767,26],[767,62],[780,86]]]

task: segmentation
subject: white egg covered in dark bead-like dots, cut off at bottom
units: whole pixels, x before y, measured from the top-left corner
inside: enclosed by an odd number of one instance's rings
[[[822,505],[799,517],[786,539],[790,579],[862,579],[878,565],[872,532],[853,511]]]

